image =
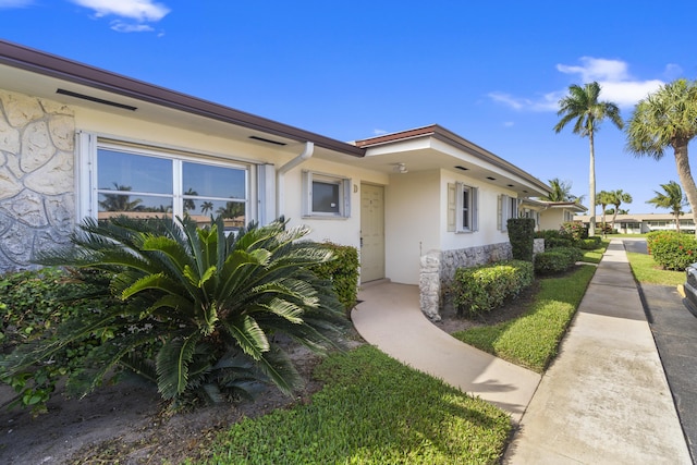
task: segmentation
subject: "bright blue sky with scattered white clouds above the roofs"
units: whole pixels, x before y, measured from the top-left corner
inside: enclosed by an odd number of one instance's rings
[[[694,0],[0,0],[5,40],[340,140],[438,123],[586,199],[588,139],[554,133],[559,99],[598,81],[628,119],[697,78],[695,17]],[[646,200],[677,181],[672,150],[624,146],[606,121],[597,191],[662,212]]]

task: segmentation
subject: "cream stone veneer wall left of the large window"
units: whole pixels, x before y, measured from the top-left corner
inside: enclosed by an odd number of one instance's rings
[[[33,268],[37,250],[69,243],[74,152],[69,107],[0,90],[0,272]]]

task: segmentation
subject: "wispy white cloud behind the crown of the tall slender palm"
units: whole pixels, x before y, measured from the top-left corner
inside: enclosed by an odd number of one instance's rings
[[[564,74],[579,75],[579,81],[576,82],[578,85],[598,82],[601,87],[601,99],[612,101],[620,107],[633,107],[664,84],[661,79],[636,79],[624,61],[592,57],[582,57],[579,61],[578,65],[558,64],[557,70]],[[678,65],[669,64],[664,74],[678,71],[682,72]],[[565,95],[567,95],[567,88],[547,93],[537,98],[514,97],[499,91],[490,93],[489,98],[514,110],[557,111],[559,100]]]

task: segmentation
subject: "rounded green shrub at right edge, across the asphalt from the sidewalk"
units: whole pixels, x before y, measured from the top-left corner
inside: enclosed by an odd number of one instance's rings
[[[683,271],[697,261],[697,240],[692,234],[656,231],[647,234],[653,260],[665,270]]]

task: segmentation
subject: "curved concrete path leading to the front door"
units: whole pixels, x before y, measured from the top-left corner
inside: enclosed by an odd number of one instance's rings
[[[540,375],[464,344],[421,314],[418,286],[379,283],[362,289],[352,311],[356,330],[398,360],[509,412],[519,421]]]

